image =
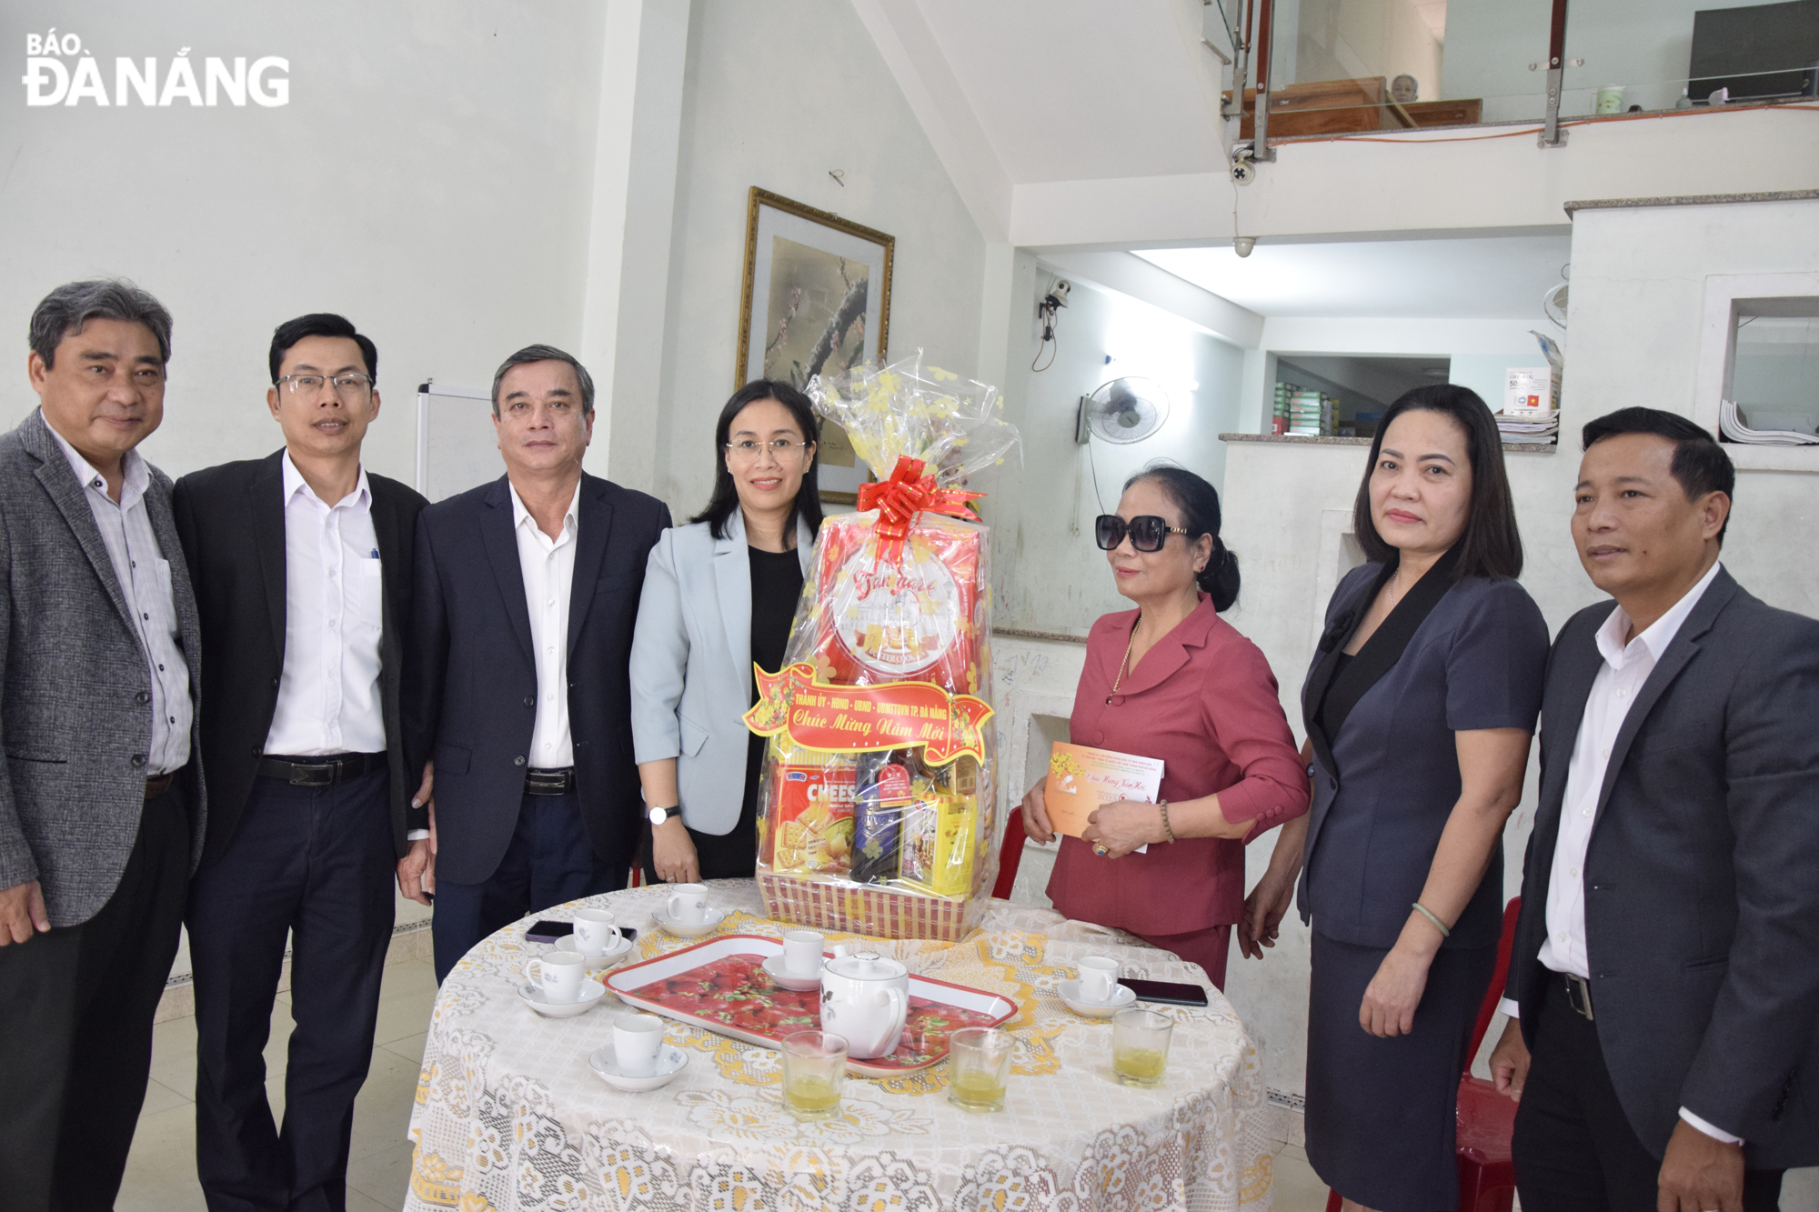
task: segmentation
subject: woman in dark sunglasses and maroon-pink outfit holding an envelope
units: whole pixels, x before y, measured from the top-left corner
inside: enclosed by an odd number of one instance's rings
[[[1239,568],[1219,540],[1213,486],[1181,468],[1142,471],[1095,537],[1137,610],[1093,624],[1068,739],[1161,759],[1162,790],[1155,804],[1102,804],[1084,837],[1062,837],[1048,895],[1068,917],[1128,930],[1224,988],[1244,844],[1308,810],[1308,773],[1270,662],[1219,617],[1237,601]],[[1046,783],[1022,801],[1039,843],[1055,835]]]

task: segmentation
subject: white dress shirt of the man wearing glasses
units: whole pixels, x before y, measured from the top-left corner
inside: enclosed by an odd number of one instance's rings
[[[378,531],[366,468],[333,506],[284,468],[284,673],[266,752],[384,753],[378,693],[384,628]]]

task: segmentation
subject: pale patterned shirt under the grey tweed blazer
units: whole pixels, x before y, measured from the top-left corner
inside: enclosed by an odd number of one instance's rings
[[[151,488],[151,470],[136,449],[120,460],[120,502],[107,495],[107,480],[64,440],[55,428],[51,437],[69,460],[69,470],[82,484],[82,495],[95,515],[113,564],[115,581],[133,611],[138,644],[146,651],[151,673],[151,752],[146,755],[146,773],[160,775],[182,770],[189,761],[189,666],[176,637],[176,602],[171,597],[171,562],[158,551],[158,537],[151,530],[146,491]]]

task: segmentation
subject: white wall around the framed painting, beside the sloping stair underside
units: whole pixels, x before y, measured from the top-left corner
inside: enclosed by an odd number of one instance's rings
[[[891,359],[922,346],[926,364],[977,375],[986,249],[851,4],[697,0],[688,71],[668,369],[637,404],[660,415],[653,491],[678,519],[708,502],[713,422],[739,384],[751,186],[897,237]]]

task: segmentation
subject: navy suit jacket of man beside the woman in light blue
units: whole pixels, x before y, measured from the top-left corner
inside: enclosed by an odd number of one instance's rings
[[[608,866],[637,859],[642,795],[631,750],[631,628],[669,508],[582,475],[568,622],[568,704],[582,824]],[[437,763],[437,875],[477,884],[511,843],[537,722],[531,617],[506,477],[417,520],[406,662],[411,768]],[[415,786],[415,784],[413,784]]]

